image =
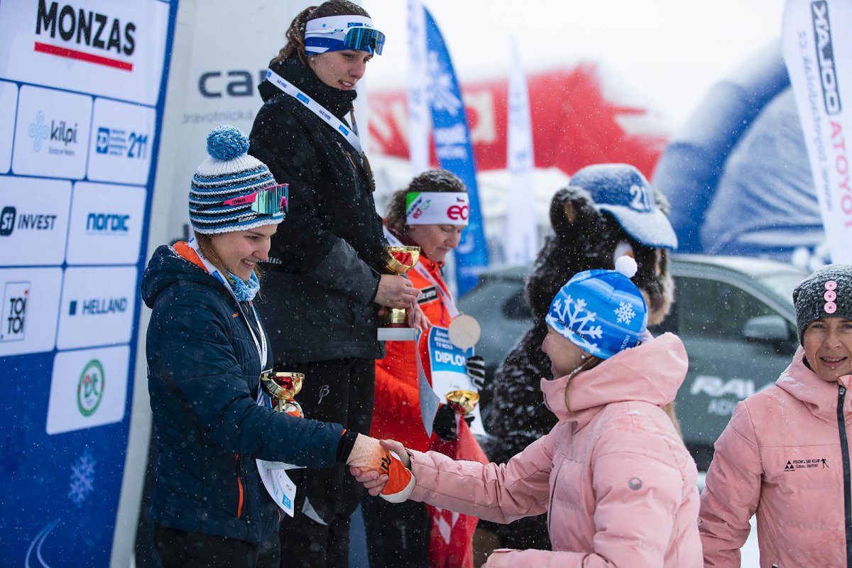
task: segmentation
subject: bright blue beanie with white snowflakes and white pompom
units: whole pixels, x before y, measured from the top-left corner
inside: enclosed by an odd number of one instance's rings
[[[648,326],[648,307],[630,278],[636,261],[622,256],[615,270],[575,274],[550,302],[544,321],[586,353],[609,359],[636,347]]]

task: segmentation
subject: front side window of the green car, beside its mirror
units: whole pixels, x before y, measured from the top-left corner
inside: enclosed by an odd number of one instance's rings
[[[681,336],[742,336],[746,321],[776,313],[745,290],[704,278],[676,279],[675,317]]]

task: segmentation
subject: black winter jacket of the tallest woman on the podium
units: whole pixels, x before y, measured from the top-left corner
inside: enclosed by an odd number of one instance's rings
[[[348,123],[354,91],[325,85],[295,57],[272,70]],[[268,81],[259,89],[249,153],[290,184],[263,280],[276,363],[381,359],[373,299],[387,242],[369,164],[301,102]]]

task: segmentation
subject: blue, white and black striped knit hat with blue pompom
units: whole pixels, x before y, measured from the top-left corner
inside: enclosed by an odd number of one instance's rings
[[[248,149],[248,137],[235,126],[217,126],[207,135],[210,158],[195,170],[189,189],[189,221],[195,231],[244,231],[284,220],[283,212],[258,213],[251,209],[251,203],[222,203],[275,185],[266,164],[246,154]]]

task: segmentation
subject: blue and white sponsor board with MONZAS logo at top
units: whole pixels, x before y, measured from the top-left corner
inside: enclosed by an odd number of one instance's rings
[[[176,12],[0,0],[3,566],[134,546],[113,535]]]

